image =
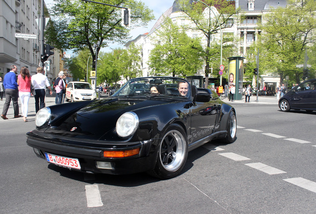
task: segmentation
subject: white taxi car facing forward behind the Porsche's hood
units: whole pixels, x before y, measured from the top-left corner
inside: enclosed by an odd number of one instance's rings
[[[90,83],[69,82],[66,88],[67,102],[96,100],[96,93]]]

